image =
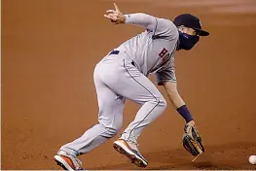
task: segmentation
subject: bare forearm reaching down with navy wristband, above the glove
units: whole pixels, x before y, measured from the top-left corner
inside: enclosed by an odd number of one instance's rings
[[[165,90],[168,96],[169,101],[174,106],[176,111],[183,117],[186,122],[193,120],[190,111],[188,110],[185,102],[179,95],[177,90],[177,84],[175,82],[164,82],[163,85],[165,86]]]

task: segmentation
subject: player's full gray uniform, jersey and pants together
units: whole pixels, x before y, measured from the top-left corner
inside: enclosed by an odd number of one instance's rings
[[[165,111],[165,98],[147,76],[155,73],[159,85],[163,81],[176,82],[173,54],[179,36],[177,28],[170,20],[145,14],[126,15],[126,18],[128,23],[143,26],[146,31],[97,63],[93,80],[98,124],[62,146],[62,151],[73,155],[89,153],[117,134],[122,127],[126,99],[141,106],[122,133],[121,138],[128,141],[136,142],[141,131]]]

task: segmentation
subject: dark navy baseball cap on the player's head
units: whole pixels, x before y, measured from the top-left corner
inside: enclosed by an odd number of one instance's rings
[[[173,23],[176,26],[184,25],[185,27],[193,28],[200,36],[208,36],[209,32],[201,29],[201,21],[198,17],[190,14],[183,14],[174,18]]]

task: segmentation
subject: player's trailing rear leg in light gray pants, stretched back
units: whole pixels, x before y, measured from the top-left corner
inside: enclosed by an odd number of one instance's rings
[[[72,163],[68,162],[69,158],[72,159],[72,156],[74,156],[73,158],[78,160],[76,156],[89,153],[92,149],[116,135],[122,126],[125,98],[116,94],[101,82],[97,67],[94,70],[94,84],[99,107],[98,123],[87,130],[80,138],[62,146],[58,155],[55,155],[60,160],[60,164],[65,165],[66,168],[70,166],[69,163]],[[69,157],[63,158],[67,159],[67,162],[62,161],[59,155]]]

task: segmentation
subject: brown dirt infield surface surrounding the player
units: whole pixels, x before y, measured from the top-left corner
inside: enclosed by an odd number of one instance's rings
[[[206,152],[191,162],[183,120],[169,104],[139,138],[148,169],[256,169],[248,162],[256,154],[256,1],[116,2],[124,13],[192,13],[210,32],[193,51],[176,53],[179,91]],[[103,15],[112,8],[113,1],[2,0],[2,169],[59,169],[58,148],[96,123],[96,62],[143,31],[109,23]],[[127,103],[123,128],[137,109]],[[85,168],[137,169],[113,150],[116,138],[82,155]]]

